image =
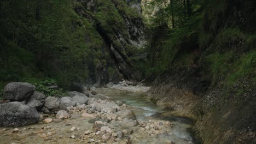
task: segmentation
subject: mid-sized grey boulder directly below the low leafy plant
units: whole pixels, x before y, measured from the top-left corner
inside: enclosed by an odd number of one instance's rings
[[[47,97],[44,101],[44,107],[53,113],[57,113],[59,110],[66,110],[66,106],[61,103],[59,98]]]

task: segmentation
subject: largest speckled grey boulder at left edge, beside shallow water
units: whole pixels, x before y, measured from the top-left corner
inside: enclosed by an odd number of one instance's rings
[[[0,109],[0,127],[21,127],[37,123],[39,118],[35,107],[24,105],[18,101],[5,103]]]

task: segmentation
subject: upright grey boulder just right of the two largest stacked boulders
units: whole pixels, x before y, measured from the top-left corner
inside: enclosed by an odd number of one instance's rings
[[[26,101],[26,105],[30,107],[36,107],[37,110],[40,110],[44,105],[45,95],[39,92],[34,92],[33,95]]]

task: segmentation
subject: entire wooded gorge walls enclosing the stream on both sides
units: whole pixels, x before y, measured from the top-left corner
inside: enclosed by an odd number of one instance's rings
[[[256,143],[255,24],[254,0],[2,0],[0,100],[143,81],[201,143]]]

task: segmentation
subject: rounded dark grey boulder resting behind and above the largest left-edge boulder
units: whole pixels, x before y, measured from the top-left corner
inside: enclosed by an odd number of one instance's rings
[[[20,101],[29,98],[36,86],[27,82],[11,82],[4,87],[3,99]]]

